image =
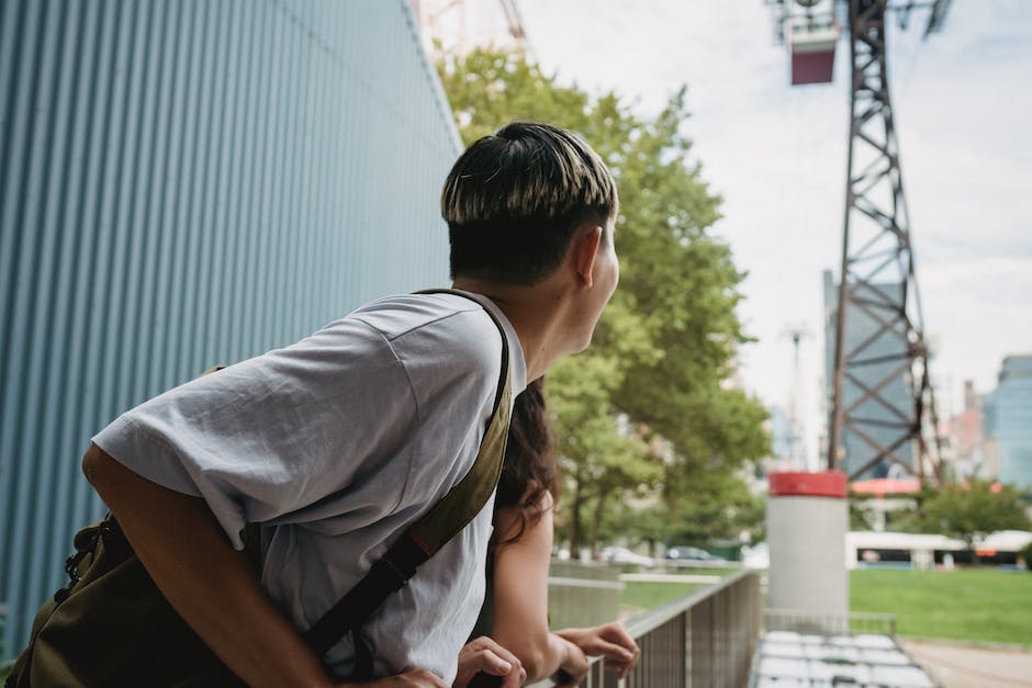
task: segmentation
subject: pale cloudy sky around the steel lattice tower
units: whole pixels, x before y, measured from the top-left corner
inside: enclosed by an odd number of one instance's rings
[[[547,72],[613,90],[652,114],[687,84],[703,177],[722,199],[713,233],[749,275],[739,316],[744,387],[787,405],[789,327],[809,460],[823,426],[822,271],[838,275],[849,145],[849,46],[831,84],[789,87],[763,0],[519,0]],[[1032,2],[954,0],[921,41],[893,22],[887,54],[933,382],[949,415],[965,380],[991,392],[1003,357],[1032,353]],[[838,279],[838,278],[837,278]]]

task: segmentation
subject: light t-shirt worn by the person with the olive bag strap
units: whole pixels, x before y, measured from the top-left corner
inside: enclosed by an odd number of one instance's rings
[[[519,340],[478,298],[508,337],[515,397],[527,382]],[[469,471],[501,356],[498,330],[475,303],[393,296],[157,396],[93,442],[150,481],[203,497],[238,549],[245,523],[262,523],[262,585],[304,631]],[[455,680],[483,599],[492,506],[369,619],[375,676],[422,667]],[[347,677],[350,636],[324,659]]]

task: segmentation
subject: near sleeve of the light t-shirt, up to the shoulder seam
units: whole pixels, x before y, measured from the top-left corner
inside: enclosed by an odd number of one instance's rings
[[[330,496],[389,462],[404,476],[417,422],[390,342],[344,319],[161,394],[93,442],[143,477],[204,498],[239,549],[246,522],[315,520]],[[378,499],[357,508],[379,518],[403,489],[404,480],[383,481]]]

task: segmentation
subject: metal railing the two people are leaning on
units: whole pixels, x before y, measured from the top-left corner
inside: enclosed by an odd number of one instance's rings
[[[760,582],[740,572],[713,587],[628,619],[638,666],[620,680],[594,662],[585,688],[727,688],[749,683],[760,636]],[[541,681],[535,688],[554,686]]]

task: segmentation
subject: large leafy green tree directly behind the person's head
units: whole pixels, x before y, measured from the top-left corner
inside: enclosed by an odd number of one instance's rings
[[[588,351],[548,375],[567,481],[558,522],[572,548],[617,532],[707,540],[754,527],[762,512],[738,471],[769,452],[766,415],[721,384],[748,341],[734,312],[744,275],[709,233],[720,199],[681,134],[685,89],[649,119],[518,53],[478,49],[439,71],[468,144],[513,120],[549,122],[590,142],[619,187],[620,287]]]

